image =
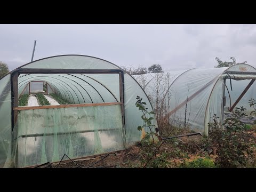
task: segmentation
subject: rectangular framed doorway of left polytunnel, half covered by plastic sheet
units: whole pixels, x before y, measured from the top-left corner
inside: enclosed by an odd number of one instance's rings
[[[98,80],[105,76],[111,87]],[[26,68],[13,73],[11,81],[15,166],[125,148],[122,70]],[[28,106],[19,106],[24,94],[29,95]]]

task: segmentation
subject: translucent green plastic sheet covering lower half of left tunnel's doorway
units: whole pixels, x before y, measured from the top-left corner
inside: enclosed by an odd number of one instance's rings
[[[15,166],[24,167],[57,162],[64,154],[78,158],[121,150],[125,143],[119,105],[22,110],[14,129],[18,139],[5,167],[17,156]]]

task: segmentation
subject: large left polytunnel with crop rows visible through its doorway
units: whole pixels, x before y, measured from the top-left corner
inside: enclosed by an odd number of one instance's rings
[[[54,93],[68,105],[35,105],[38,93],[46,99]],[[26,94],[27,106],[19,106]],[[0,167],[127,148],[141,138],[137,95],[153,110],[133,77],[111,62],[85,55],[58,55],[14,69],[0,79]],[[151,117],[157,127],[155,115]]]

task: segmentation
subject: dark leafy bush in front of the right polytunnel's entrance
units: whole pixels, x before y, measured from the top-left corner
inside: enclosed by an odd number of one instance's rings
[[[243,137],[246,134],[245,126],[239,118],[247,116],[244,107],[235,108],[234,117],[227,118],[223,126],[218,123],[218,117],[214,114],[213,123],[209,123],[209,137],[214,147],[217,148],[218,157],[215,164],[221,167],[244,167],[252,155],[251,146]]]

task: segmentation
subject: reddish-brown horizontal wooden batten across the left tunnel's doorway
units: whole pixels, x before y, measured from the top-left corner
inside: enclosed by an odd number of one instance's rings
[[[53,108],[67,108],[67,107],[93,107],[93,106],[111,106],[111,105],[122,105],[122,104],[123,104],[122,102],[83,103],[83,104],[58,105],[58,106],[14,107],[13,110],[53,109]]]

